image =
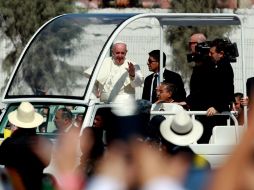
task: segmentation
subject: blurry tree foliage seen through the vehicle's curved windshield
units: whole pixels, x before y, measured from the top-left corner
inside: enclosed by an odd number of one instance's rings
[[[59,18],[34,39],[22,60],[23,78],[34,93],[38,89],[54,89],[61,94],[70,94],[69,90],[76,85],[83,69],[69,65],[65,59],[75,56],[73,41],[79,39],[81,32],[81,26],[73,20]]]

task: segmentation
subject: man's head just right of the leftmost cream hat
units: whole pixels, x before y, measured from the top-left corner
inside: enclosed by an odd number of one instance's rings
[[[55,115],[54,123],[58,130],[64,131],[72,124],[71,111],[67,108],[58,109]]]

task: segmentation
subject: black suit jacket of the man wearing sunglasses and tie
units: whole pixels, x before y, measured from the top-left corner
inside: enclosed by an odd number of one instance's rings
[[[153,74],[150,74],[145,78],[142,99],[150,101],[150,91],[151,91],[152,80],[153,80]],[[173,99],[176,102],[186,101],[186,91],[184,89],[183,80],[178,73],[165,69],[163,72],[163,82],[172,83],[176,86],[177,88],[176,93],[173,96]]]

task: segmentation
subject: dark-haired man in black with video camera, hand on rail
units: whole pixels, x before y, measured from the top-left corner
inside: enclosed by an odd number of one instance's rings
[[[204,125],[204,133],[198,143],[209,142],[215,125],[226,125],[227,117],[215,115],[229,111],[234,101],[234,73],[228,55],[228,48],[231,47],[228,43],[223,39],[210,42],[206,55],[199,60],[202,63],[193,69],[197,77],[196,86],[190,84],[188,103],[191,110],[207,112],[206,116],[197,116]]]

